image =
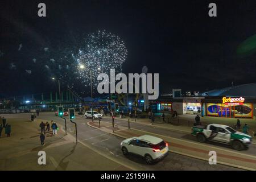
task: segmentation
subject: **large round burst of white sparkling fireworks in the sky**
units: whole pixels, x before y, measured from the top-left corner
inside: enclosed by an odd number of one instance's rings
[[[126,60],[127,49],[125,43],[114,34],[98,31],[85,39],[84,47],[76,56],[79,77],[86,86],[90,85],[90,71],[92,71],[93,86],[97,86],[99,73],[109,75],[110,69],[122,71],[122,64]]]

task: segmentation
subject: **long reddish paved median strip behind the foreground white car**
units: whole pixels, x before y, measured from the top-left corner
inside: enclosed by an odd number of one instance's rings
[[[101,122],[104,125],[108,125],[108,122]],[[89,126],[98,128],[97,124],[92,122],[87,123]],[[101,125],[102,125],[101,124]],[[209,160],[209,151],[216,151],[217,153],[217,163],[224,164],[227,166],[247,169],[247,170],[256,170],[256,156],[242,154],[240,152],[225,150],[222,148],[208,146],[207,144],[201,144],[196,142],[190,142],[183,139],[177,139],[172,137],[167,137],[164,135],[149,133],[137,129],[127,129],[127,127],[121,127],[115,125],[114,133],[112,126],[100,128],[99,130],[105,131],[106,133],[111,133],[117,135],[121,138],[131,138],[138,137],[144,134],[153,135],[155,137],[162,138],[169,144],[170,152],[174,152],[181,155],[191,156],[193,158]]]

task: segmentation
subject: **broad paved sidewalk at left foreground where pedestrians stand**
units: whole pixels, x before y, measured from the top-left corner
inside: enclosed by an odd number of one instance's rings
[[[57,135],[46,134],[45,146],[40,144],[39,123],[26,119],[8,118],[11,137],[2,132],[0,170],[130,170],[113,160],[97,154],[71,135],[64,135],[62,127]],[[45,121],[44,121],[45,122]],[[46,165],[38,164],[38,151],[46,152]]]

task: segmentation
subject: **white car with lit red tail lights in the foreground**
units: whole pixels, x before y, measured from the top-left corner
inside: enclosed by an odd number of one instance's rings
[[[164,158],[169,152],[167,142],[150,135],[142,135],[141,137],[123,140],[121,142],[121,150],[123,155],[133,153],[142,156],[148,164]]]

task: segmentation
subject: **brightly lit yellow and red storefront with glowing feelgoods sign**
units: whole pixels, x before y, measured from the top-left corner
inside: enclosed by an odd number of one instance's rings
[[[222,97],[221,103],[205,103],[205,105],[208,116],[253,118],[253,104],[246,103],[244,97]]]

